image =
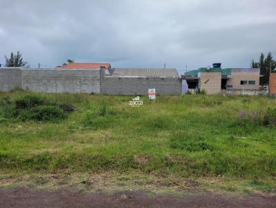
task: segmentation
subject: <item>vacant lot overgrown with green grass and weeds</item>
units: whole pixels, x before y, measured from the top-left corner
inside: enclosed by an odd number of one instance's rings
[[[143,106],[130,107],[132,98],[0,93],[0,180],[112,173],[121,185],[189,178],[275,191],[275,98],[144,96]]]

